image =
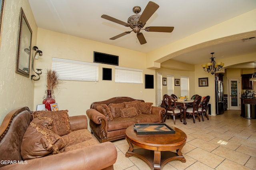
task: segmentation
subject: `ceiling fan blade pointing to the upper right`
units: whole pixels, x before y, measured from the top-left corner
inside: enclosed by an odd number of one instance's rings
[[[148,19],[156,12],[156,10],[159,8],[159,5],[150,1],[148,2],[146,8],[142,12],[140,18],[138,21],[146,23]]]

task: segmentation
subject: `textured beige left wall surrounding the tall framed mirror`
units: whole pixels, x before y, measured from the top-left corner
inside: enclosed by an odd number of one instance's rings
[[[34,82],[15,73],[21,7],[32,29],[32,47],[36,45],[37,26],[28,0],[5,0],[0,46],[0,123],[12,109],[33,109]]]

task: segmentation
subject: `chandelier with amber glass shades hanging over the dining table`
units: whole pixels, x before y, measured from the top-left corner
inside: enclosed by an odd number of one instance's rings
[[[223,67],[224,63],[222,63],[222,62],[217,62],[216,63],[216,61],[214,61],[215,57],[213,57],[214,53],[211,53],[211,54],[212,54],[212,57],[210,57],[211,62],[206,63],[206,64],[202,64],[202,67],[203,67],[204,71],[207,71],[208,73],[214,74],[216,71],[222,70],[222,67]],[[256,77],[256,73],[255,73],[255,77]]]

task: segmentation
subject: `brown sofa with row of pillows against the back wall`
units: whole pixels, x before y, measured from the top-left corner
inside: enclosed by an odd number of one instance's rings
[[[164,123],[165,109],[130,97],[114,97],[94,102],[86,111],[90,128],[100,142],[125,138],[125,130],[134,123]]]

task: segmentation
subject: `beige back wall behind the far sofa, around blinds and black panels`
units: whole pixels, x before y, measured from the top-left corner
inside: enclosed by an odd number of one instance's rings
[[[38,28],[37,45],[43,56],[36,61],[36,68],[43,69],[40,81],[35,82],[34,109],[42,103],[45,95],[45,71],[52,67],[52,57],[93,62],[93,51],[119,56],[119,66],[143,69],[143,84],[125,84],[114,82],[114,65],[99,64],[99,81],[63,81],[55,91],[59,109],[68,109],[69,115],[86,114],[90,104],[117,96],[143,99],[155,105],[154,89],[144,88],[144,74],[154,75],[155,70],[146,69],[146,54],[100,42],[94,42],[66,34]],[[112,68],[112,81],[102,80],[102,67]],[[155,79],[155,77],[154,77]]]

